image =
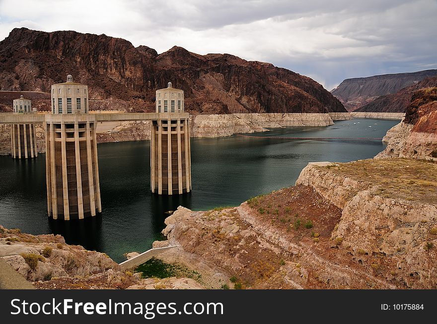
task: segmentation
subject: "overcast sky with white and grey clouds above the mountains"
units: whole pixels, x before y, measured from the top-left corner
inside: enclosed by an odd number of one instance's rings
[[[106,34],[158,53],[174,45],[343,79],[437,68],[437,0],[0,0],[15,27]]]

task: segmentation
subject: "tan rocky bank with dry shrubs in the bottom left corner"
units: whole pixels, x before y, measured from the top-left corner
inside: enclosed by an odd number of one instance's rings
[[[66,244],[60,235],[31,235],[0,225],[0,258],[38,289],[202,289],[193,279],[143,279],[120,271],[106,254]],[[1,276],[1,274],[0,274]]]

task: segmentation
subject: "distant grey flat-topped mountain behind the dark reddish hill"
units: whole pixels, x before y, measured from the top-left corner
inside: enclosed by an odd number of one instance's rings
[[[352,78],[344,80],[337,88],[331,90],[331,93],[337,97],[348,110],[353,111],[373,102],[373,100],[380,96],[394,94],[402,88],[417,84],[426,77],[433,76],[437,76],[437,70]],[[381,105],[378,109],[376,109],[376,106],[369,106],[367,109],[368,110],[360,111],[403,112],[403,110],[397,110],[399,109],[397,107],[394,107],[394,110],[393,108],[384,108],[384,105]]]

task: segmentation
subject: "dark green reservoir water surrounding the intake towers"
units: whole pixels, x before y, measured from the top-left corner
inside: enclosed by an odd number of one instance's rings
[[[67,243],[106,252],[117,262],[126,252],[143,252],[162,238],[165,212],[237,206],[250,197],[294,184],[308,162],[349,162],[374,157],[380,140],[293,140],[275,137],[381,138],[396,120],[355,119],[328,127],[292,127],[191,139],[193,191],[180,196],[150,193],[150,145],[98,145],[102,215],[76,221],[47,217],[45,156],[18,161],[0,157],[0,224],[32,234],[55,233]],[[354,124],[355,123],[355,124]],[[348,125],[350,127],[348,127]],[[368,127],[371,126],[371,127]]]

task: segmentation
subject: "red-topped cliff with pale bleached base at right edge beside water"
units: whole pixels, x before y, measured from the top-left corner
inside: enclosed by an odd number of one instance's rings
[[[405,119],[384,137],[386,149],[376,158],[437,159],[437,87],[412,95]]]

